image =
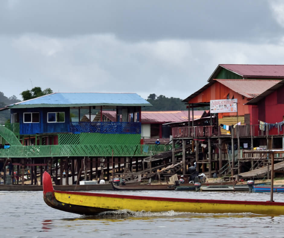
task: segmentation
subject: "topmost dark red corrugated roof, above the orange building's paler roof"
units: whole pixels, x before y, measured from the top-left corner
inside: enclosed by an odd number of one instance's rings
[[[284,77],[284,65],[220,64],[244,77]]]

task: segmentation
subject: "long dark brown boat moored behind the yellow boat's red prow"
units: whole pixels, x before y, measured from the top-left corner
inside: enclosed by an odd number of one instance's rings
[[[139,185],[140,182],[126,182],[129,185]],[[54,185],[54,189],[61,191],[91,191],[112,190],[111,183],[88,185]],[[0,185],[0,191],[42,191],[42,185]]]

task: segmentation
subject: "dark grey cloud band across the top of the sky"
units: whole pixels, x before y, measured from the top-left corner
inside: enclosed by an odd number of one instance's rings
[[[1,34],[69,37],[113,33],[123,40],[278,39],[266,0],[1,1]]]

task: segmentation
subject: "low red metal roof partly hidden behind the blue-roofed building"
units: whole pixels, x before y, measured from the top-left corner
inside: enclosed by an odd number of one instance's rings
[[[111,121],[116,121],[115,111],[102,111]],[[194,119],[202,116],[204,111],[193,111]],[[168,123],[188,120],[188,111],[142,111],[141,123]],[[190,112],[190,120],[192,120],[192,112]]]

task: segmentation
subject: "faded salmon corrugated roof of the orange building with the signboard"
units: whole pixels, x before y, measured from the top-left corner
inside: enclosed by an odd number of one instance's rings
[[[281,80],[264,79],[214,79],[219,83],[230,88],[234,92],[244,95],[247,98],[255,98],[268,88],[281,82]]]

